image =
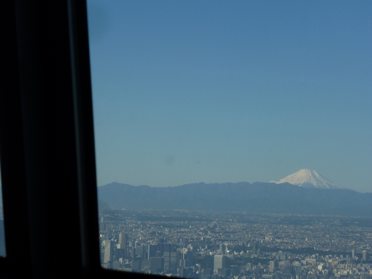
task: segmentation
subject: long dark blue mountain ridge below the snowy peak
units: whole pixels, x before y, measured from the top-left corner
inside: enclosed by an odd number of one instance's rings
[[[97,187],[100,207],[371,216],[372,193],[289,183],[193,183],[175,187],[113,182]]]

